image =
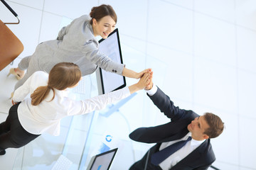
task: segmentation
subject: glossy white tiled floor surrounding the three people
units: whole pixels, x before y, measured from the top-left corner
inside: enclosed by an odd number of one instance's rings
[[[225,123],[220,137],[211,140],[218,169],[252,170],[255,162],[256,102],[256,1],[255,0],[12,0],[7,1],[21,19],[9,28],[21,39],[24,51],[15,60],[33,54],[36,45],[55,39],[63,21],[88,14],[92,6],[110,4],[117,12],[124,63],[137,72],[151,67],[154,83],[177,106],[198,114],[213,112]],[[0,3],[0,19],[16,18]],[[7,96],[14,77],[6,79],[10,67],[0,72],[0,115],[4,120],[11,106]],[[127,79],[127,84],[137,82]],[[118,114],[122,114],[118,115]],[[1,119],[1,120],[2,120]],[[116,126],[117,135],[131,155],[140,159],[151,145],[130,143],[129,132],[141,126],[153,126],[169,120],[161,115],[144,92],[114,113],[103,125]],[[109,121],[109,122],[105,122]],[[100,135],[100,128],[97,135]],[[104,127],[102,127],[104,128]],[[112,129],[113,127],[110,127]],[[118,133],[117,133],[118,134]],[[132,153],[132,148],[134,153]],[[9,151],[9,150],[8,150]],[[11,151],[9,151],[11,152]],[[16,151],[4,157],[14,159]],[[1,167],[11,169],[13,163]],[[120,167],[122,159],[114,162]],[[125,164],[124,169],[128,169]]]

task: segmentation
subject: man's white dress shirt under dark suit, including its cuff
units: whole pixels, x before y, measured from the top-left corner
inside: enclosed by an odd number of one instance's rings
[[[148,90],[146,92],[147,92],[147,94],[149,94],[149,96],[153,96],[156,93],[156,91],[157,91],[157,86],[153,85],[152,89]],[[178,141],[187,140],[189,136],[191,136],[191,132],[188,132],[188,134],[186,136],[182,137],[179,140],[173,140],[173,141],[170,141],[170,142],[163,142],[163,143],[161,143],[161,145],[159,147],[159,151],[161,149],[169,147],[170,145],[173,145],[174,143],[176,143]],[[193,138],[192,138],[192,140],[187,142],[184,147],[182,147],[178,151],[174,152],[174,154],[171,154],[171,156],[168,157],[167,159],[165,159],[164,162],[161,162],[161,164],[159,164],[159,166],[161,167],[161,169],[164,169],[164,170],[165,169],[171,169],[178,162],[180,162],[183,158],[188,156],[188,154],[193,152],[194,149],[199,147],[204,141],[205,140],[193,140]]]

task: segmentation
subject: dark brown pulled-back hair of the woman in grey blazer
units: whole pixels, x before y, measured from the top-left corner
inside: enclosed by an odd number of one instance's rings
[[[114,12],[114,9],[110,5],[102,4],[101,6],[95,6],[92,7],[92,10],[90,12],[90,17],[98,22],[101,20],[101,18],[105,16],[111,16],[111,18],[114,20],[115,23],[117,23],[117,14]],[[90,21],[90,24],[92,25],[92,19]]]

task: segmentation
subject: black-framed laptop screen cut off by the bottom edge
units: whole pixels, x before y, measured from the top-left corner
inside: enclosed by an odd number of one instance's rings
[[[87,170],[108,170],[113,162],[117,148],[102,154],[97,154],[90,160]]]

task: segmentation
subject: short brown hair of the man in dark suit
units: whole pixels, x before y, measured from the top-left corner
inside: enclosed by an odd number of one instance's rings
[[[203,117],[205,118],[206,123],[210,126],[204,134],[208,135],[209,138],[218,137],[224,129],[223,121],[218,115],[214,115],[213,113],[205,113]]]

